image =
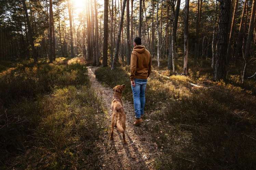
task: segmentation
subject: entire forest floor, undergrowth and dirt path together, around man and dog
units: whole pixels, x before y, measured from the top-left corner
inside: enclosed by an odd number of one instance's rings
[[[0,65],[0,169],[255,169],[255,80],[241,84],[234,70],[214,82],[210,63],[189,76],[155,63],[139,126],[129,66],[79,57]],[[116,128],[109,139],[121,84],[127,144]]]

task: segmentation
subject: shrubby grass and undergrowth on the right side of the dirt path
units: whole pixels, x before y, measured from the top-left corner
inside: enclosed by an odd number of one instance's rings
[[[146,92],[146,119],[151,121],[143,125],[162,151],[154,168],[254,169],[255,83],[242,85],[234,73],[225,82],[214,82],[206,66],[191,68],[189,77],[155,67]],[[126,84],[123,97],[132,101],[129,67],[99,68],[96,78],[110,87]]]

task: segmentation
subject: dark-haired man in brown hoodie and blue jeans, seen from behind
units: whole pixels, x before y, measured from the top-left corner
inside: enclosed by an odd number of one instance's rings
[[[131,56],[131,85],[136,121],[134,125],[143,122],[145,107],[145,90],[151,72],[151,55],[145,46],[142,46],[140,37],[134,38],[134,48]]]

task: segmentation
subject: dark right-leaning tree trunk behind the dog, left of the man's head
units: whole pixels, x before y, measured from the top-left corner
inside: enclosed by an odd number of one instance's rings
[[[121,18],[120,18],[119,30],[118,30],[118,35],[117,35],[116,50],[115,50],[111,70],[116,69],[116,64],[117,64],[117,61],[118,61],[118,51],[119,51],[119,44],[120,44],[122,27],[123,27],[123,17],[124,17],[125,4],[126,4],[126,0],[123,0],[123,6],[122,6],[123,8],[122,8],[122,14],[121,14]]]

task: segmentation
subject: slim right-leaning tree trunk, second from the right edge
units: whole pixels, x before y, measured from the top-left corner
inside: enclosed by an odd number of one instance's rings
[[[244,14],[246,11],[246,4],[247,4],[247,0],[244,1],[244,7],[243,7],[243,12],[241,15],[241,21],[240,21],[240,26],[239,26],[239,32],[238,32],[238,37],[237,37],[237,46],[235,47],[235,57],[234,57],[234,61],[237,61],[237,58],[239,56],[239,54],[241,54],[241,47],[242,47],[242,40],[243,40],[243,33],[244,33]]]

